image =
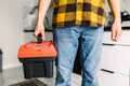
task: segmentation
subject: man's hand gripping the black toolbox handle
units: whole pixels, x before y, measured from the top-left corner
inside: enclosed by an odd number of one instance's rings
[[[46,33],[44,33],[44,26],[43,25],[36,26],[34,35],[38,37],[39,33],[41,33],[41,39],[44,40],[46,39]]]

